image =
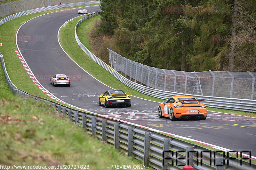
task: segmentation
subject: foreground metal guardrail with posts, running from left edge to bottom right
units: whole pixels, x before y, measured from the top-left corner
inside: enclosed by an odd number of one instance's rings
[[[180,139],[135,126],[120,120],[87,113],[69,108],[59,103],[28,94],[18,89],[10,80],[6,71],[4,59],[0,53],[0,60],[4,75],[13,94],[32,97],[45,103],[51,103],[55,110],[67,116],[78,127],[84,129],[93,137],[97,137],[108,144],[114,145],[128,156],[143,162],[145,166],[156,169],[182,169],[191,165],[195,170],[254,170],[256,165],[246,162],[250,158],[232,158],[230,153],[213,151],[199,145],[191,144]],[[244,151],[249,152],[249,151]],[[232,152],[233,153],[233,152]],[[251,159],[250,159],[251,160]]]

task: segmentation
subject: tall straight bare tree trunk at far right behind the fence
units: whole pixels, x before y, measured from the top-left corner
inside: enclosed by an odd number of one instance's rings
[[[232,37],[231,48],[229,51],[228,71],[234,71],[234,59],[235,59],[235,40],[236,40],[236,16],[237,16],[237,0],[234,3],[234,13],[232,17]]]

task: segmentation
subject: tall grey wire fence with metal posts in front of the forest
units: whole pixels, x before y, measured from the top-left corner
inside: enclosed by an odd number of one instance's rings
[[[149,67],[109,50],[109,66],[126,78],[176,93],[256,100],[256,72],[185,72]]]

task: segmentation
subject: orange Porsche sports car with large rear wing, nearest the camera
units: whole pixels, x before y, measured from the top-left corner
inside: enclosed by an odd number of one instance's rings
[[[207,110],[204,100],[196,100],[192,96],[173,96],[162,102],[158,107],[159,117],[170,117],[175,119],[206,119]]]

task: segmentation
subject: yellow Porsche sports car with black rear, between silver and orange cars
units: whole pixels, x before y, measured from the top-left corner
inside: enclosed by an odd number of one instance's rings
[[[123,90],[108,90],[99,97],[99,106],[125,106],[131,107],[131,97]]]

